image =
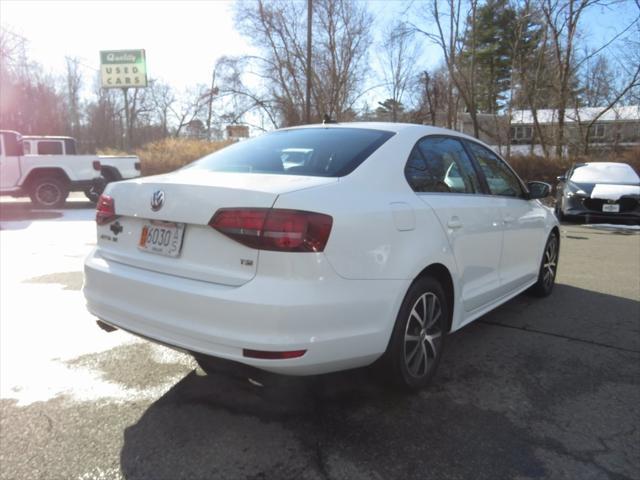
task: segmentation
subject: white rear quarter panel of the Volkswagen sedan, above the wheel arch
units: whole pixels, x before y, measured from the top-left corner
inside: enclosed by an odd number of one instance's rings
[[[447,237],[404,177],[406,159],[422,135],[398,132],[339,182],[282,194],[274,205],[331,215],[325,248],[330,265],[345,279],[404,281],[397,308],[413,280],[434,263],[449,270],[458,298],[458,268]]]

